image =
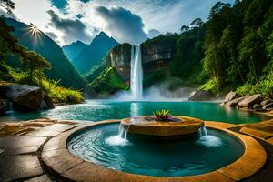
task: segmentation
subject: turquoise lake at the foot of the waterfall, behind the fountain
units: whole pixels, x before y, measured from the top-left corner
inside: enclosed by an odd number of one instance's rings
[[[52,110],[35,113],[8,112],[0,120],[27,120],[40,117],[100,121],[121,119],[130,116],[152,115],[155,109],[169,109],[172,115],[193,116],[204,120],[228,123],[250,123],[268,118],[253,112],[238,111],[236,108],[218,106],[207,102],[118,102],[89,100],[85,104],[58,106]]]

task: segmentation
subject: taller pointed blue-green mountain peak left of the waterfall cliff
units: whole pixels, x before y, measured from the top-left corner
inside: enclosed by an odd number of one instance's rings
[[[72,64],[80,73],[86,73],[97,63],[100,63],[106,53],[118,45],[116,40],[101,32],[93,39],[92,43],[72,59]]]

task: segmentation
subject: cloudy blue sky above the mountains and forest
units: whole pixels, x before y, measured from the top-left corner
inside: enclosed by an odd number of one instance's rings
[[[219,0],[14,0],[14,18],[34,24],[59,45],[90,44],[100,32],[139,44],[178,32],[197,17],[207,20]],[[235,0],[222,0],[231,5]],[[0,14],[4,11],[0,9]]]

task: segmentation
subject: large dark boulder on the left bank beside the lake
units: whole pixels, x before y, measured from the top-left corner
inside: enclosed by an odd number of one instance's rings
[[[13,85],[8,86],[5,97],[12,101],[15,110],[35,111],[40,108],[42,90],[36,86]]]

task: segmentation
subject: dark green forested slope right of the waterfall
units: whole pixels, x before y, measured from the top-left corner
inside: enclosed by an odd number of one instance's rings
[[[189,26],[182,25],[179,33],[159,35],[142,44],[176,41],[175,58],[167,69],[146,74],[144,84],[168,80],[173,86],[197,86],[214,94],[236,90],[242,96],[259,93],[272,98],[272,30],[271,0],[218,2],[206,22],[197,18]]]

